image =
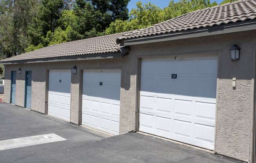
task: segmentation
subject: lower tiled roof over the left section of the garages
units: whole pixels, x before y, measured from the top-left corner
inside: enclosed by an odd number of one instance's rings
[[[58,58],[87,54],[116,53],[119,52],[119,48],[121,48],[120,45],[117,45],[116,38],[120,37],[121,35],[122,33],[117,33],[106,36],[88,38],[84,40],[77,40],[73,42],[60,43],[57,45],[51,45],[42,49],[13,56],[11,58],[6,58],[4,60],[1,60],[0,62],[4,63],[10,61]]]

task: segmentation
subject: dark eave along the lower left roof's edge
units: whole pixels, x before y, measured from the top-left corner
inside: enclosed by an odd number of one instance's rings
[[[88,55],[78,55],[78,56],[66,56],[66,57],[55,57],[55,58],[40,58],[32,60],[18,60],[18,61],[8,61],[1,62],[2,65],[10,64],[23,64],[23,63],[40,63],[40,62],[63,62],[63,61],[80,61],[80,60],[96,60],[96,59],[109,59],[109,58],[121,58],[129,54],[130,48],[120,47],[119,52],[116,53],[101,53],[101,54],[88,54]]]

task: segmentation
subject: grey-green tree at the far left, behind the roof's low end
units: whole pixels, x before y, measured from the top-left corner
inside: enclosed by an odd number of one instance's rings
[[[27,25],[37,14],[38,0],[0,1],[0,55],[11,57],[24,52],[29,42]]]

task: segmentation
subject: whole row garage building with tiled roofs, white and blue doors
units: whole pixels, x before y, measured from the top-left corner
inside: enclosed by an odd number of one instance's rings
[[[4,100],[254,162],[255,42],[256,0],[240,0],[1,60]]]

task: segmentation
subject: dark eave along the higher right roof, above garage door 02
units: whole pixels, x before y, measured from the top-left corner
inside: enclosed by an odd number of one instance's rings
[[[121,46],[128,46],[128,45],[137,45],[137,44],[143,44],[143,43],[163,42],[163,41],[170,41],[170,40],[180,40],[185,38],[211,36],[216,34],[249,31],[254,29],[256,29],[256,20],[247,20],[245,22],[237,22],[237,23],[232,23],[227,25],[218,25],[214,27],[206,27],[206,28],[200,28],[200,29],[191,29],[187,31],[180,31],[180,32],[174,32],[169,34],[131,38],[131,39],[125,39],[125,40],[118,39],[117,42],[119,42]]]

